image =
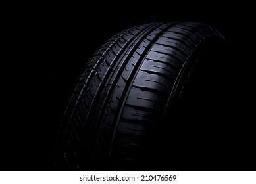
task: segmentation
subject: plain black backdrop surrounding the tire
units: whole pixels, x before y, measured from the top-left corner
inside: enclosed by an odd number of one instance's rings
[[[224,76],[229,105],[226,116],[219,118],[223,124],[218,122],[219,128],[226,131],[226,137],[218,143],[229,149],[225,149],[224,157],[218,155],[223,164],[194,166],[193,170],[255,170],[251,16],[242,14],[242,7],[231,5],[123,7],[102,5],[102,11],[98,5],[79,9],[69,5],[37,6],[16,14],[9,22],[7,45],[11,51],[7,53],[7,67],[2,68],[5,110],[0,170],[55,170],[51,160],[55,125],[86,61],[107,39],[125,28],[177,20],[217,28],[226,37],[230,53]]]

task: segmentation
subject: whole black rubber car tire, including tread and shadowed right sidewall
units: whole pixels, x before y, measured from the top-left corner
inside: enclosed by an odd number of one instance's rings
[[[186,126],[184,101],[193,99],[196,74],[210,60],[215,66],[224,42],[217,30],[195,22],[143,24],[113,36],[74,89],[59,127],[57,167],[139,170],[175,160],[166,150],[178,136],[174,127]]]

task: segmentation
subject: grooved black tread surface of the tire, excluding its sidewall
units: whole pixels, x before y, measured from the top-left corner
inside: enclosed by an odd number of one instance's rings
[[[180,71],[210,37],[223,39],[203,24],[164,22],[129,28],[109,39],[89,60],[64,113],[57,139],[59,168],[84,169],[89,162],[115,168],[140,160]]]

